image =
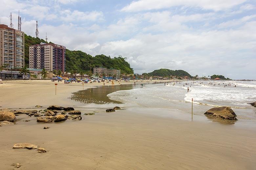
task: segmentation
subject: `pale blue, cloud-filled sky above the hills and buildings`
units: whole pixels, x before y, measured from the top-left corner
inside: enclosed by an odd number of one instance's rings
[[[256,79],[256,0],[0,0],[1,23],[92,56],[126,57],[135,73]]]

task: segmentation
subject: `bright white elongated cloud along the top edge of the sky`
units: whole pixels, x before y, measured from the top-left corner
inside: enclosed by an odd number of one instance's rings
[[[198,7],[204,10],[225,10],[230,9],[236,5],[244,3],[246,0],[139,0],[133,1],[129,5],[121,9],[124,12],[137,12],[143,10],[156,10],[166,9],[170,7],[186,6],[186,7]]]

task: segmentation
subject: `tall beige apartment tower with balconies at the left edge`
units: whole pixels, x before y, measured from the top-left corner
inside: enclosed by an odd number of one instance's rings
[[[0,66],[24,67],[24,32],[0,24]]]

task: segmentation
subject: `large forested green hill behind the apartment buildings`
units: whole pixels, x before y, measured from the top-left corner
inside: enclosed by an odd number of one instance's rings
[[[43,39],[34,38],[25,34],[25,65],[29,66],[29,46],[45,42]],[[46,43],[46,42],[45,42]],[[86,54],[82,51],[70,51],[66,49],[66,71],[71,70],[89,71],[90,67],[105,67],[115,68],[121,70],[121,74],[132,74],[133,69],[130,64],[122,56],[114,57],[113,59],[103,54],[96,55],[95,57]]]

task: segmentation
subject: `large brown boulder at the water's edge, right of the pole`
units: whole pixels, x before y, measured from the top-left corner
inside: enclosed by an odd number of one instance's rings
[[[237,120],[235,112],[229,107],[218,107],[207,110],[204,115],[225,120]]]

